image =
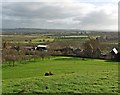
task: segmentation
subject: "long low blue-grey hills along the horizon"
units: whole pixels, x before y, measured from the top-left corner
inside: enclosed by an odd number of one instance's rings
[[[38,28],[15,28],[15,29],[2,29],[2,34],[36,34],[36,33],[62,33],[62,34],[70,34],[70,33],[92,33],[92,34],[116,34],[117,31],[103,31],[103,30],[78,30],[78,29],[38,29]]]

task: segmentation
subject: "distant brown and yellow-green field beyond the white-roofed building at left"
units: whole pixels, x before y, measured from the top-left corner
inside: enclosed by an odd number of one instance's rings
[[[54,41],[54,38],[46,38],[44,35],[5,35],[3,41],[9,43],[46,43]]]

